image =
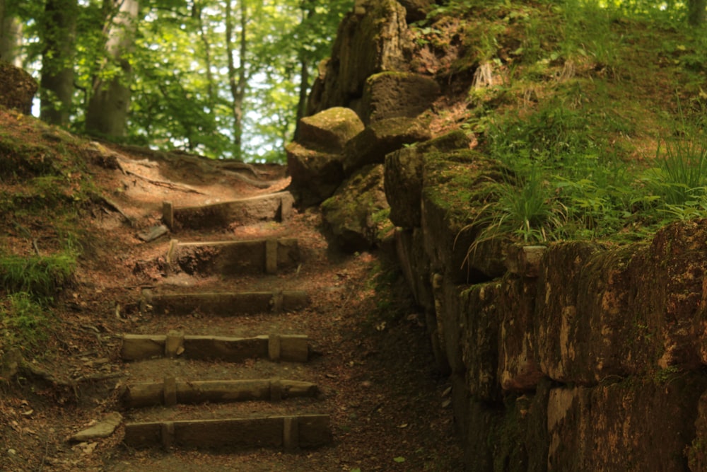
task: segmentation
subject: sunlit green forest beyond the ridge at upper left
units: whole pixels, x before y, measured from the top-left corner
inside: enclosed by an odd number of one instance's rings
[[[71,132],[284,161],[351,0],[0,0],[0,59]]]

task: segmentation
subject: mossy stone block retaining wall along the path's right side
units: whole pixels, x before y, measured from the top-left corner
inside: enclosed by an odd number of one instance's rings
[[[469,151],[419,160],[419,200],[390,198],[391,214],[420,209],[397,252],[452,378],[467,470],[703,471],[707,221],[621,248],[467,254],[480,206],[470,185],[495,164]]]

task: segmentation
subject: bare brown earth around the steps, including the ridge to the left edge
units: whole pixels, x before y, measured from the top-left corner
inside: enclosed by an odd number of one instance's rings
[[[78,264],[54,294],[48,335],[24,347],[13,376],[0,379],[0,470],[3,471],[455,471],[462,469],[454,437],[450,385],[433,362],[424,315],[411,301],[385,245],[344,254],[320,232],[318,209],[293,209],[284,221],[177,229],[145,242],[139,234],[162,224],[163,202],[175,207],[267,195],[288,187],[276,165],[237,165],[198,156],[89,143],[30,117],[0,110],[0,128],[23,142],[62,146],[81,154],[95,195],[78,205]],[[66,148],[66,149],[64,149]],[[9,175],[9,174],[6,174]],[[21,179],[1,179],[5,195],[23,195]],[[51,253],[52,210],[4,214],[4,251]],[[188,273],[166,261],[170,241],[297,238],[301,260],[276,274]],[[281,313],[218,316],[199,309],[158,314],[146,291],[170,293],[304,290],[309,304]],[[141,301],[142,300],[142,301]],[[226,315],[227,313],[222,313]],[[246,359],[121,358],[124,334],[249,338],[303,334],[308,362]],[[8,345],[0,352],[8,359]],[[129,409],[134,382],[294,379],[317,386],[315,398]],[[112,413],[122,421],[105,438],[71,439]],[[159,418],[254,418],[329,415],[331,443],[314,449],[132,447],[129,421]]]

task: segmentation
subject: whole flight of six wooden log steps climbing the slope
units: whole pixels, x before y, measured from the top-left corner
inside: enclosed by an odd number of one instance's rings
[[[193,207],[165,202],[163,221],[173,233],[203,228],[202,236],[209,238],[209,231],[233,221],[286,224],[292,201],[288,192],[277,192]],[[304,290],[273,288],[306,263],[298,239],[173,239],[165,260],[170,274],[206,283],[142,290],[141,313],[160,318],[168,329],[122,335],[120,357],[129,372],[122,396],[124,445],[233,451],[307,449],[332,442],[329,415],[318,405],[317,373],[308,367],[308,335],[272,331],[279,317],[309,304]],[[251,323],[248,333],[232,334],[244,331],[238,328],[239,316],[254,314],[269,315],[262,333],[253,334],[259,326]],[[224,317],[233,320],[227,325],[230,333],[205,332],[204,318]]]

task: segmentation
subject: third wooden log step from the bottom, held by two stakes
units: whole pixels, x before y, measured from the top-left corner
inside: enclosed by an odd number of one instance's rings
[[[226,336],[184,335],[170,331],[167,335],[122,336],[120,355],[123,360],[135,361],[158,357],[243,362],[245,359],[265,358],[279,362],[307,362],[310,354],[307,335],[262,335],[255,338]]]

